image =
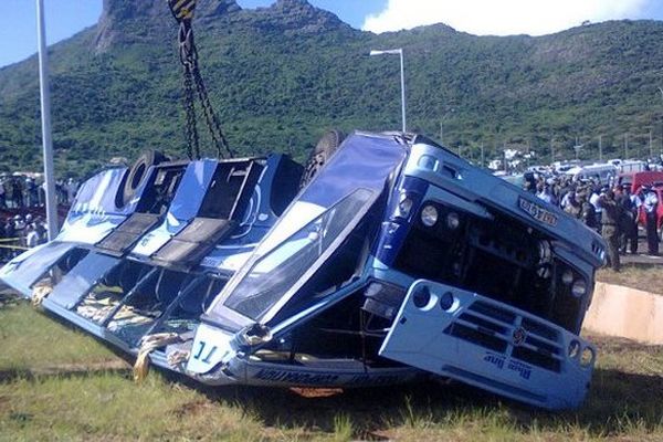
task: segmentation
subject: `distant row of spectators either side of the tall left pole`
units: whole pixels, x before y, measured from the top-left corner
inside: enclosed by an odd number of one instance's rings
[[[70,178],[55,181],[59,204],[74,201],[80,182]],[[45,183],[38,178],[23,175],[0,175],[0,209],[21,209],[45,204]]]

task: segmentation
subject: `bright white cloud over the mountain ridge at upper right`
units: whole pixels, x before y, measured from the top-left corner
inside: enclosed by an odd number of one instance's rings
[[[477,35],[543,35],[579,25],[632,18],[651,0],[389,0],[364,29],[398,31],[445,23]]]

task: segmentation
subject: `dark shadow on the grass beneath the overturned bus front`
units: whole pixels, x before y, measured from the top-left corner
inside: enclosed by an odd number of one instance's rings
[[[270,427],[334,432],[338,415],[346,414],[355,436],[368,440],[382,439],[381,433],[393,427],[453,425],[454,420],[491,417],[524,434],[577,429],[606,436],[627,434],[634,427],[660,431],[663,425],[663,379],[618,370],[597,369],[585,404],[562,412],[533,409],[457,382],[354,389],[322,398],[275,388],[197,389],[211,401],[231,402]]]

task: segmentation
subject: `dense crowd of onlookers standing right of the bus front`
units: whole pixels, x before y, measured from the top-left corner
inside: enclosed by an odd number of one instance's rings
[[[573,180],[570,176],[544,177],[529,173],[525,177],[525,190],[537,198],[560,207],[566,213],[596,230],[608,244],[608,263],[620,270],[620,254],[638,253],[638,221],[644,211],[648,253],[659,255],[657,206],[655,190],[642,186],[636,194],[631,185],[602,185],[594,180]]]

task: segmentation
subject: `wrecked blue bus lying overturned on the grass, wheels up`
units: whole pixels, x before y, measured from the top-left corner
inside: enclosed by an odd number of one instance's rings
[[[81,189],[0,278],[108,345],[210,386],[424,376],[578,407],[600,236],[432,140],[335,134],[284,155],[141,157]]]

